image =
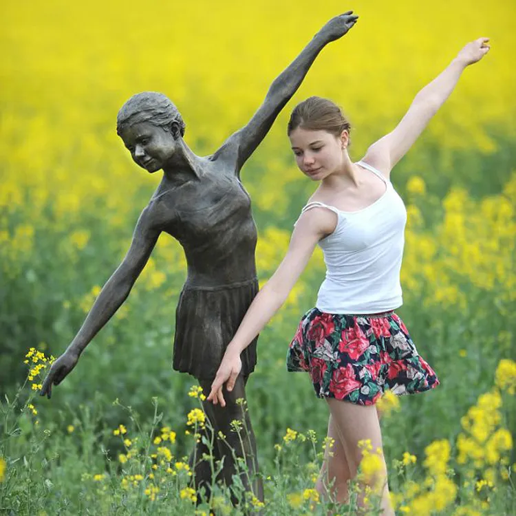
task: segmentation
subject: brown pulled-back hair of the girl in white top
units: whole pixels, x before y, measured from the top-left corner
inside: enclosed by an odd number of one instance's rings
[[[332,100],[321,97],[309,97],[299,103],[290,114],[287,133],[300,127],[307,131],[327,131],[339,137],[342,131],[351,131],[351,124],[345,118],[342,109]]]

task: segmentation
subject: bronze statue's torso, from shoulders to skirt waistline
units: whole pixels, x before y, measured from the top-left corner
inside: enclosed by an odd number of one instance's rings
[[[184,248],[187,285],[219,287],[256,277],[257,229],[250,197],[233,171],[208,162],[200,180],[175,187],[166,203],[174,215],[165,230]]]

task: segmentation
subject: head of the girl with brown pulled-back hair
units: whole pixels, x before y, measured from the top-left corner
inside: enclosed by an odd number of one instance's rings
[[[313,180],[334,172],[347,156],[350,131],[350,122],[331,100],[303,100],[294,107],[287,128],[299,169]]]

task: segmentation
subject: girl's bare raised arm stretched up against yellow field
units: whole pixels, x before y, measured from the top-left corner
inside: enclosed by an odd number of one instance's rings
[[[487,54],[488,41],[488,38],[479,38],[468,43],[447,68],[416,95],[396,129],[367,149],[364,161],[388,176],[453,92],[464,68],[477,63]]]

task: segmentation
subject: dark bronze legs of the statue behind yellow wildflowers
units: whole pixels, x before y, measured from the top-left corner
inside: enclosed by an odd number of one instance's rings
[[[231,486],[233,475],[239,475],[246,491],[251,492],[259,501],[263,502],[264,486],[261,478],[257,475],[256,439],[246,402],[246,380],[247,378],[239,376],[231,392],[224,387],[226,407],[204,401],[204,410],[215,431],[218,459],[224,457],[222,479],[225,484]],[[211,383],[212,380],[200,381],[205,396],[208,396],[211,391]],[[237,400],[242,400],[242,402],[237,402]],[[237,431],[237,427],[239,427],[239,431]],[[223,440],[219,438],[219,432],[224,434]],[[232,502],[236,504],[237,498],[232,497]]]

